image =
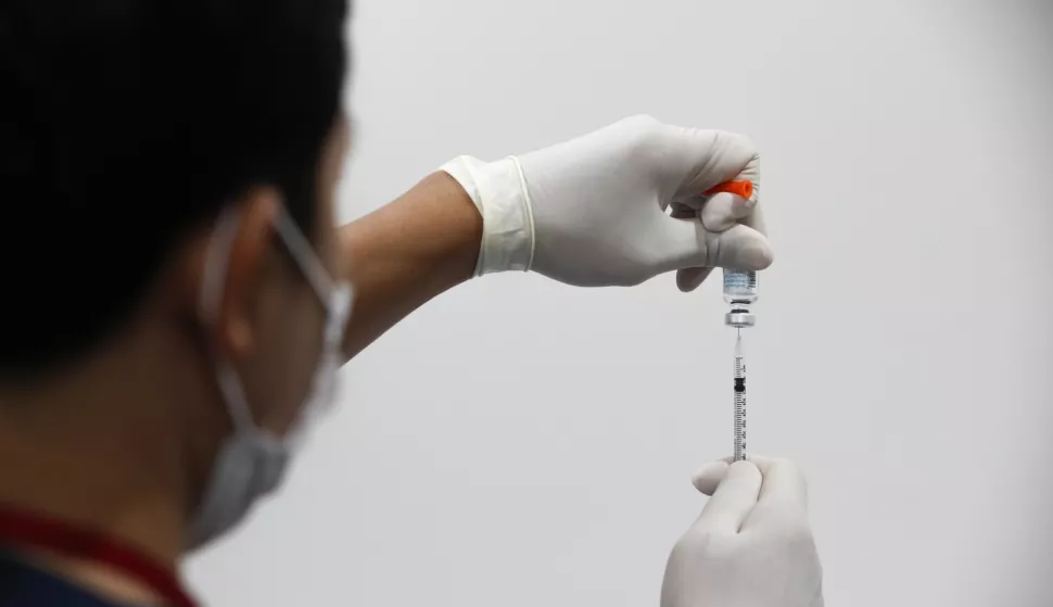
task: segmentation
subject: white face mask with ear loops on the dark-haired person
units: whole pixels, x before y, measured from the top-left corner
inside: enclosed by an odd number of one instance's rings
[[[284,208],[278,214],[275,227],[326,307],[322,351],[307,401],[284,438],[256,426],[241,379],[227,361],[216,357],[216,377],[234,431],[220,445],[201,503],[191,517],[188,529],[188,547],[191,549],[223,535],[241,521],[261,497],[278,488],[295,446],[318,414],[330,408],[335,396],[341,344],[351,312],[351,287],[332,280]],[[201,291],[202,314],[208,321],[218,318],[227,261],[237,230],[238,215],[232,211],[224,212],[210,243]]]

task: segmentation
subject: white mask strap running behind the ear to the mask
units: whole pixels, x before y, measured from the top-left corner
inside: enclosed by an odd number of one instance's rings
[[[227,269],[230,266],[230,250],[233,248],[240,222],[241,218],[238,216],[237,208],[226,205],[219,212],[216,227],[205,251],[205,269],[201,279],[201,296],[198,305],[201,317],[207,326],[214,327],[219,323],[224,279],[227,277]],[[238,374],[218,354],[215,347],[211,349],[211,355],[217,368],[219,390],[223,392],[227,413],[230,415],[234,428],[237,430],[255,428],[252,414],[249,410],[249,403],[245,400],[245,391],[241,387]]]

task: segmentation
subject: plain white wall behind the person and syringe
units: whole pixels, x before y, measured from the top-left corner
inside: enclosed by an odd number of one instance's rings
[[[635,113],[749,134],[776,263],[750,446],[797,460],[828,605],[1053,604],[1053,4],[359,0],[351,219],[461,153]],[[347,368],[210,605],[658,603],[731,450],[716,281],[477,280]]]

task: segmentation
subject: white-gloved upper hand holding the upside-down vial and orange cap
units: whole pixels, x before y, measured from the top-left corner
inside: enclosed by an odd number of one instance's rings
[[[534,270],[602,287],[676,269],[688,291],[713,267],[772,263],[759,156],[740,135],[637,116],[521,159],[460,156],[443,169],[483,216],[477,276]],[[701,195],[730,180],[752,181],[750,200]]]

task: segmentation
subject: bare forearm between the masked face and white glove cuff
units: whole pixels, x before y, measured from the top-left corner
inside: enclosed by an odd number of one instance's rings
[[[471,278],[482,227],[479,211],[457,181],[435,173],[341,228],[341,254],[355,287],[344,336],[347,358],[435,295]]]

